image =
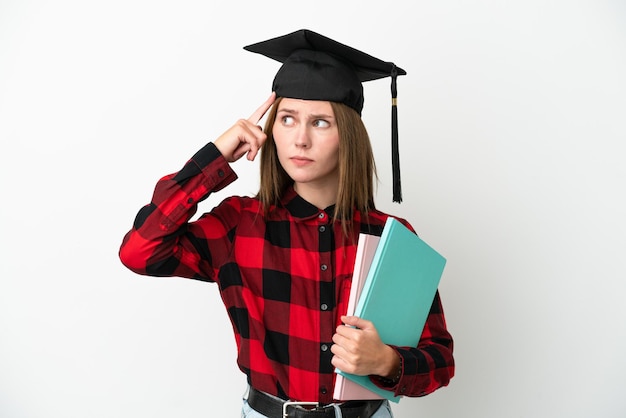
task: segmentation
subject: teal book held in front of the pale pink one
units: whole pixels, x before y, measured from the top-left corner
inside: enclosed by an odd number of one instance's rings
[[[389,217],[354,315],[372,321],[385,344],[417,347],[445,265],[441,254]],[[368,376],[335,371],[385,399],[399,402],[401,398],[379,388]]]

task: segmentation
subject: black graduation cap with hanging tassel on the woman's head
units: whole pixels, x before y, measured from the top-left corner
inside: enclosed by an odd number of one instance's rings
[[[279,97],[343,103],[360,115],[365,81],[391,77],[393,201],[402,202],[396,78],[406,71],[308,29],[244,47],[283,63],[272,90]]]

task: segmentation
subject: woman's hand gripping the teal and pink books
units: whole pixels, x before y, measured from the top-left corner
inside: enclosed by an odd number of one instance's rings
[[[333,366],[360,376],[388,377],[397,372],[400,358],[382,342],[371,321],[356,316],[342,316],[341,321],[345,325],[338,326],[333,335]]]

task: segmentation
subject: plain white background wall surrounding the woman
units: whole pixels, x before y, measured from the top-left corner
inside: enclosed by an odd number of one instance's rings
[[[396,417],[624,417],[618,0],[0,0],[0,416],[239,415],[216,286],[117,250],[158,178],[269,94],[278,64],[242,47],[300,28],[408,72],[401,205],[388,80],[363,118],[378,207],[448,258],[457,376]],[[256,192],[235,168],[227,194]]]

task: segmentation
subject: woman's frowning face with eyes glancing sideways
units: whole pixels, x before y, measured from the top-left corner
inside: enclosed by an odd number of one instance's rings
[[[282,99],[273,135],[280,164],[294,180],[296,190],[336,190],[339,131],[329,102]]]

